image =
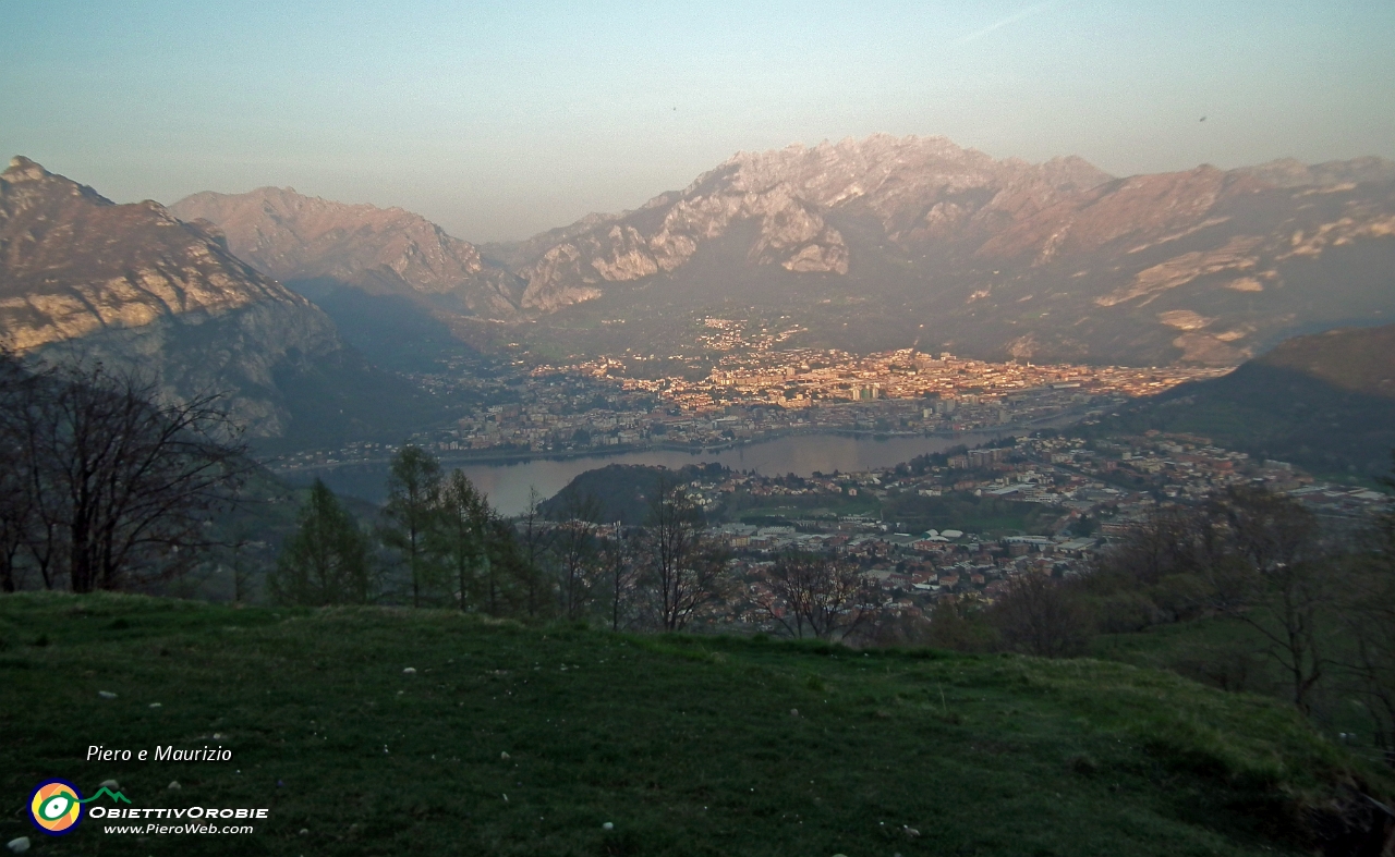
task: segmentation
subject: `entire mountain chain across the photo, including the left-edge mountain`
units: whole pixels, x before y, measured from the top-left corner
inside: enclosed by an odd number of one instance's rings
[[[1395,163],[1377,157],[1116,178],[873,135],[738,153],[635,210],[484,245],[290,188],[166,209],[24,157],[0,174],[11,347],[227,389],[268,438],[420,425],[420,390],[377,366],[695,354],[713,315],[778,323],[788,346],[1236,365],[1389,321],[1392,283]]]

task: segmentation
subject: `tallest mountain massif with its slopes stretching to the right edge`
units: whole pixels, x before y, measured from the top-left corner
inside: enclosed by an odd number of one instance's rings
[[[591,301],[633,322],[636,288],[651,309],[696,308],[739,283],[724,294],[854,350],[1235,364],[1292,333],[1395,316],[1395,164],[1112,178],[1078,157],[877,135],[739,153],[633,212],[491,252],[541,314]],[[854,316],[820,318],[847,300]]]

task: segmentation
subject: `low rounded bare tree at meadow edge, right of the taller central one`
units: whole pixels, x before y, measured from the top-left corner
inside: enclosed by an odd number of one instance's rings
[[[861,569],[827,556],[791,552],[766,573],[756,606],[787,634],[843,640],[876,613],[876,592]]]

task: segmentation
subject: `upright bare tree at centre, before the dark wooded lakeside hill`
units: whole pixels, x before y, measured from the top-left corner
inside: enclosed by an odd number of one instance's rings
[[[703,535],[702,510],[668,477],[658,479],[640,534],[657,624],[679,631],[725,594],[725,555]]]

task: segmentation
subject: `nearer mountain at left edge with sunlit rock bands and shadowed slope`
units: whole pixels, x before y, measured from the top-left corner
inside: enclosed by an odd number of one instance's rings
[[[319,309],[211,224],[114,205],[25,157],[0,173],[0,337],[155,372],[172,396],[227,392],[252,436],[287,428],[276,372],[342,348]]]

